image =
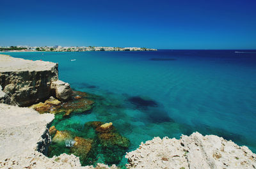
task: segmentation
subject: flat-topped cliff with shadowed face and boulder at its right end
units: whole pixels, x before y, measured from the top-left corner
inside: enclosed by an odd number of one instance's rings
[[[10,103],[20,107],[45,101],[52,94],[66,100],[72,93],[67,83],[58,80],[58,63],[9,55],[0,55],[0,85],[10,97]]]

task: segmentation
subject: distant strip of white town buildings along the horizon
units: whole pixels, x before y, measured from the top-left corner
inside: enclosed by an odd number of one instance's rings
[[[140,47],[29,47],[29,46],[11,46],[0,47],[1,52],[84,52],[84,51],[152,51],[154,48],[140,48]]]

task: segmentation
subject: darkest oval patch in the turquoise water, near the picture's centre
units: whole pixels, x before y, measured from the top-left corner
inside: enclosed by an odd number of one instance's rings
[[[128,99],[132,104],[136,105],[137,107],[158,107],[156,101],[150,99],[144,99],[140,96],[134,96]]]

